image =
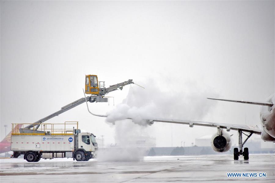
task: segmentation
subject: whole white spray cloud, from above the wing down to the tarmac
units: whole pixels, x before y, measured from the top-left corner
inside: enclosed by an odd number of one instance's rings
[[[119,148],[101,152],[99,160],[141,160],[148,149],[138,148],[135,140],[140,136],[140,131],[148,125],[144,119],[202,120],[214,103],[206,98],[218,97],[211,89],[200,88],[196,82],[182,84],[182,88],[156,84],[152,80],[146,83],[143,84],[145,89],[131,86],[123,102],[107,113],[106,121],[115,124],[115,139]],[[133,120],[125,120],[126,118]]]

